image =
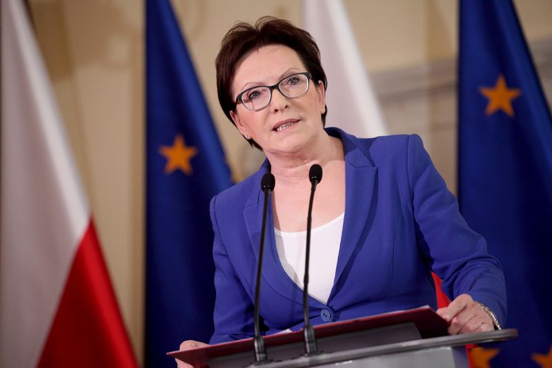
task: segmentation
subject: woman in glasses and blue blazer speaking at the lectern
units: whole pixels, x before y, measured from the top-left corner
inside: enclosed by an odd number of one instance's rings
[[[453,300],[437,311],[450,322],[449,333],[500,328],[502,268],[458,213],[420,137],[359,139],[324,129],[326,76],[307,32],[271,17],[255,26],[238,23],[224,37],[216,66],[221,107],[267,160],[211,202],[217,302],[210,343],[253,336],[260,182],[268,171],[276,186],[261,288],[263,329],[301,329],[312,164],[324,170],[313,206],[313,325],[435,308],[433,270]],[[186,341],[181,349],[199,345]]]

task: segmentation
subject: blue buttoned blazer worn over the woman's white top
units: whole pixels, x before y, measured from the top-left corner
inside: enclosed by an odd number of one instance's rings
[[[431,271],[449,298],[468,293],[504,322],[506,290],[499,262],[471,231],[454,195],[417,135],[359,139],[337,128],[345,154],[346,204],[333,289],[327,304],[309,298],[311,323],[348,320],[422,305],[437,307]],[[263,193],[257,173],[213,197],[215,333],[211,343],[254,335],[253,300]],[[305,179],[307,180],[307,178]],[[278,183],[276,183],[278,185]],[[316,199],[315,199],[316,200]],[[305,209],[306,215],[306,209]],[[262,329],[301,329],[302,289],[284,271],[272,209],[261,284]]]

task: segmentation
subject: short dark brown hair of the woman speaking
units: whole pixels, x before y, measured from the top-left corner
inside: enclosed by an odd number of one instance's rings
[[[261,17],[254,25],[246,22],[236,23],[222,39],[219,55],[215,60],[219,104],[232,124],[235,124],[230,117],[230,111],[235,111],[236,108],[235,99],[232,98],[236,66],[248,52],[268,45],[284,45],[295,50],[313,80],[322,81],[324,88],[328,86],[326,73],[320,62],[320,50],[306,30],[295,27],[290,21],[275,17]],[[326,107],[322,114],[323,125],[326,123],[327,113]],[[253,139],[248,139],[248,142],[261,148]]]

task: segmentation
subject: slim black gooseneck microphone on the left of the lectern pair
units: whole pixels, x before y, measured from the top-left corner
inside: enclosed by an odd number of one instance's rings
[[[255,345],[255,363],[253,365],[264,364],[270,362],[266,355],[266,348],[264,347],[264,340],[261,336],[261,329],[259,327],[259,309],[260,309],[260,296],[261,296],[261,271],[263,265],[263,253],[264,253],[264,234],[266,231],[266,212],[268,210],[268,195],[274,190],[276,181],[274,175],[266,173],[261,180],[261,189],[264,192],[264,206],[263,206],[263,223],[261,226],[261,242],[259,244],[259,260],[257,260],[257,282],[255,284],[255,338],[253,343]]]

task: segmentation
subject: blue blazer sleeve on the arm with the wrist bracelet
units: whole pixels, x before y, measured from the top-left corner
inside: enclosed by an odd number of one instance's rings
[[[467,293],[489,307],[502,325],[506,319],[506,286],[502,266],[489,255],[484,238],[460,215],[457,200],[446,188],[422,139],[408,139],[408,184],[417,244],[442,279],[451,300]]]

